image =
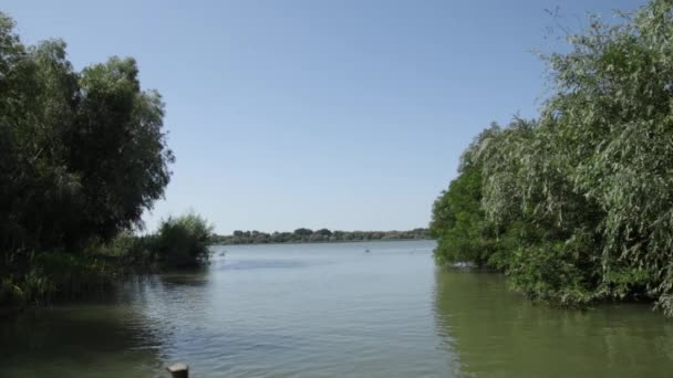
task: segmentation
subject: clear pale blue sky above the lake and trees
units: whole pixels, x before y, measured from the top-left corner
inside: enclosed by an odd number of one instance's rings
[[[1,0],[24,42],[62,38],[75,67],[134,56],[166,101],[177,157],[149,229],[195,210],[216,230],[425,227],[460,151],[535,116],[530,52],[560,22],[644,1]]]

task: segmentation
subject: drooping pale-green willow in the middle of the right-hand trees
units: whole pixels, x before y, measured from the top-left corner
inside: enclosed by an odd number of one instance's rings
[[[553,127],[515,119],[485,140],[482,206],[498,232],[493,264],[514,286],[561,304],[596,297],[600,250],[596,207],[569,178],[573,162]]]

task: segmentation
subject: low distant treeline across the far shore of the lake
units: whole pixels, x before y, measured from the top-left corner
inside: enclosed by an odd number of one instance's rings
[[[213,244],[321,243],[367,240],[429,239],[428,229],[410,231],[330,231],[297,229],[294,232],[234,231],[230,235],[214,235]]]

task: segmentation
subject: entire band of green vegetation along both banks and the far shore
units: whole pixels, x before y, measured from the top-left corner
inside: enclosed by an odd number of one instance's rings
[[[475,138],[429,230],[214,235],[188,213],[139,235],[175,161],[161,94],[135,60],[75,71],[65,42],[25,45],[0,12],[0,307],[205,265],[213,243],[432,238],[438,265],[496,270],[535,301],[654,301],[673,316],[673,3],[620,15],[542,56],[539,116]]]

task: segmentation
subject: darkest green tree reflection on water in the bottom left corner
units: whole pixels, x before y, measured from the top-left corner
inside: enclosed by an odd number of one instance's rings
[[[133,308],[96,304],[3,317],[0,377],[149,377],[161,358],[144,325]]]

